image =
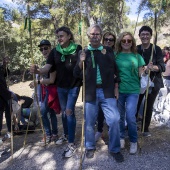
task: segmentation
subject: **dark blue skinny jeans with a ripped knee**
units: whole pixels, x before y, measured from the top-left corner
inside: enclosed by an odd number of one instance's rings
[[[60,88],[57,87],[59,102],[62,110],[62,123],[64,134],[68,135],[68,142],[74,143],[76,130],[75,105],[79,95],[80,88]],[[67,111],[70,114],[66,114]]]

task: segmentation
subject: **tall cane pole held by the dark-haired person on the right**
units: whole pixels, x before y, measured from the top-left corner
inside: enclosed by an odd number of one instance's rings
[[[160,16],[160,13],[161,13],[161,9],[162,9],[162,5],[163,5],[163,0],[161,0],[161,3],[160,3],[160,8],[159,8],[157,20],[159,19],[159,16]],[[149,62],[151,62],[153,60],[153,51],[154,51],[154,48],[155,48],[156,36],[157,36],[157,29],[156,29],[156,26],[157,26],[156,21],[157,20],[156,20],[156,16],[155,16],[154,33],[153,33],[153,46],[152,46],[151,57],[150,57]],[[151,70],[149,69],[147,89],[146,89],[146,94],[145,94],[145,105],[144,105],[145,107],[144,107],[144,113],[143,113],[142,131],[141,131],[142,132],[142,136],[141,136],[141,144],[140,144],[139,153],[141,153],[142,145],[144,143],[143,142],[143,133],[144,133],[144,130],[145,130],[145,118],[146,118],[147,100],[148,100],[148,93],[149,93],[149,77],[150,77],[150,73],[151,73]]]

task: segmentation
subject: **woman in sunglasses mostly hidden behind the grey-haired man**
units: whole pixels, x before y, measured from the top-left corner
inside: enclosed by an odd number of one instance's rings
[[[113,33],[106,32],[105,34],[103,34],[102,44],[104,46],[111,47],[114,50],[115,49],[115,42],[116,42],[116,36]],[[116,94],[116,92],[115,92],[115,94]],[[101,107],[99,107],[99,113],[98,113],[98,118],[97,118],[97,132],[95,134],[95,141],[96,142],[102,136],[103,123],[104,123],[104,113],[103,113]]]

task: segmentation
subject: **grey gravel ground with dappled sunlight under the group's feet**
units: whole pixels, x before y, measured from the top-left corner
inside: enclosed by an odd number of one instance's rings
[[[21,85],[22,86],[22,85]],[[15,85],[15,88],[17,86]],[[14,88],[14,89],[15,89]],[[62,134],[61,115],[57,115],[59,121],[59,135]],[[14,136],[13,159],[10,151],[0,157],[0,169],[4,170],[78,170],[80,165],[80,140],[81,140],[81,120],[82,103],[81,96],[76,107],[77,133],[76,145],[78,150],[69,159],[61,155],[67,144],[60,146],[51,143],[46,147],[39,145],[42,132],[36,131],[28,134],[26,146],[23,147],[25,135]],[[122,150],[125,161],[116,163],[107,149],[107,127],[104,128],[103,140],[97,142],[96,152],[93,159],[84,159],[83,170],[170,170],[170,128],[157,127],[152,122],[151,137],[142,137],[139,133],[138,153],[129,155],[129,142],[126,139],[126,147]],[[5,147],[10,148],[10,141],[6,141],[0,150]]]

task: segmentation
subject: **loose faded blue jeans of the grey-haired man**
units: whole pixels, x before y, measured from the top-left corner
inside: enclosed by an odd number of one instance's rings
[[[120,115],[114,98],[105,98],[103,89],[96,89],[96,101],[85,103],[85,147],[95,149],[95,122],[98,115],[98,105],[101,106],[106,123],[109,126],[109,151],[120,151]]]

